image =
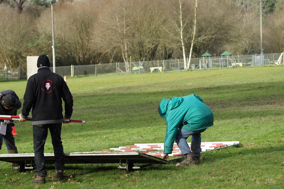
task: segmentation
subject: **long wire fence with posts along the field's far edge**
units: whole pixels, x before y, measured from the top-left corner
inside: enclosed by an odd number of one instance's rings
[[[284,60],[281,59],[282,53],[260,54],[254,55],[230,55],[219,57],[201,57],[192,58],[190,63],[191,70],[208,70],[222,68],[241,68],[252,66],[277,66]],[[280,60],[281,59],[281,60]],[[186,60],[187,61],[187,60]],[[277,63],[277,64],[275,64]],[[50,67],[53,70],[52,67]],[[169,72],[183,71],[183,59],[175,60],[154,60],[139,61],[129,63],[108,63],[95,65],[71,65],[55,67],[55,72],[62,77],[66,76],[83,76],[83,75],[122,75],[135,73],[153,73],[153,72]],[[7,71],[0,70],[0,77],[8,79],[26,79],[26,68],[18,68]],[[2,79],[3,80],[3,79]]]

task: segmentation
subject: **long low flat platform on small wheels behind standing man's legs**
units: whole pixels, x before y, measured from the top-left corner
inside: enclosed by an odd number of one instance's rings
[[[45,153],[45,164],[53,164],[54,153]],[[34,153],[16,153],[16,154],[0,154],[0,161],[9,163],[17,163],[18,171],[21,173],[25,169],[33,169]],[[169,161],[150,156],[141,152],[74,152],[64,153],[65,164],[80,164],[80,163],[119,163],[119,169],[132,171],[143,167],[153,166],[157,164],[170,164]],[[125,164],[125,166],[122,166]],[[144,164],[134,166],[134,164]]]

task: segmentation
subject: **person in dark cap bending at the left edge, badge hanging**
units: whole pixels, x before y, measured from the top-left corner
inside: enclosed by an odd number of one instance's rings
[[[12,90],[5,90],[0,92],[0,115],[17,115],[17,110],[22,106],[21,101],[17,94]],[[4,122],[4,119],[0,119],[0,122]],[[18,153],[17,146],[15,144],[15,138],[13,136],[13,120],[7,124],[6,135],[0,134],[0,150],[2,148],[3,139],[7,147],[8,154]],[[18,164],[12,163],[13,167],[17,167]]]

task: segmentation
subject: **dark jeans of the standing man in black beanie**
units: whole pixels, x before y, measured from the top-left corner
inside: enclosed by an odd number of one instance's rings
[[[62,123],[33,125],[33,149],[35,151],[36,174],[46,176],[47,171],[44,160],[44,144],[47,138],[48,129],[54,150],[55,169],[64,170],[64,152],[61,141]]]

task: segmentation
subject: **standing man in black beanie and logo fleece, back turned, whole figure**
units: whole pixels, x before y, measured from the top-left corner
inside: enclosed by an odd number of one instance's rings
[[[24,94],[20,122],[26,121],[32,109],[33,149],[37,178],[32,182],[45,183],[47,170],[44,159],[44,144],[50,131],[54,158],[55,177],[63,179],[64,152],[61,141],[62,122],[70,119],[73,112],[73,97],[64,79],[50,70],[50,61],[46,55],[40,55],[37,62],[38,73],[29,77]],[[65,115],[62,112],[62,99],[65,103]]]

